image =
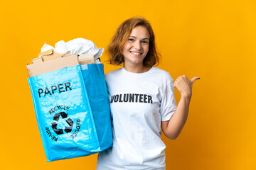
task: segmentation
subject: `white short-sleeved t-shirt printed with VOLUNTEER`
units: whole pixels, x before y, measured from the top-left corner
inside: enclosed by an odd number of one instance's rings
[[[97,170],[165,169],[161,121],[170,120],[176,111],[170,74],[157,67],[139,74],[122,68],[105,79],[113,147],[99,153]]]

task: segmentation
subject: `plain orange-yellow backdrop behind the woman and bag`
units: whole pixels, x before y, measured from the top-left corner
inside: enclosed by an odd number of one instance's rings
[[[254,0],[23,0],[0,6],[0,169],[95,169],[97,154],[46,162],[26,63],[45,42],[86,38],[105,48],[132,16],[151,22],[163,56],[159,68],[174,79],[201,77],[181,135],[174,141],[163,136],[166,169],[256,169]],[[117,69],[101,58],[105,73]]]

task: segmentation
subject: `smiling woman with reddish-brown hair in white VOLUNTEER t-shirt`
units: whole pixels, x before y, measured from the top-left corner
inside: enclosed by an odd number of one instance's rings
[[[107,47],[110,63],[122,69],[106,74],[113,147],[98,155],[98,170],[165,169],[161,129],[175,140],[188,117],[192,85],[181,76],[154,67],[159,63],[154,33],[144,18],[124,21]],[[174,87],[181,93],[176,106]]]

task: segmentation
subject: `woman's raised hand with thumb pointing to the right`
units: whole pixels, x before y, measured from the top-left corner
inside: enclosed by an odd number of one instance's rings
[[[174,87],[181,93],[181,97],[191,98],[193,83],[200,79],[199,77],[193,77],[188,79],[185,75],[178,77],[174,82]]]

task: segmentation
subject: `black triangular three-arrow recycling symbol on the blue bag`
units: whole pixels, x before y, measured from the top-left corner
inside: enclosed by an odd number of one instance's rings
[[[60,119],[60,115],[62,118],[67,118],[68,117],[68,114],[65,113],[65,112],[60,112],[60,113],[55,113],[54,117],[53,117],[53,120],[55,120],[56,122],[58,122],[58,120]],[[73,128],[73,120],[71,120],[70,118],[68,118],[67,120],[65,120],[68,125],[70,125],[69,127],[65,127],[65,132],[68,133],[68,132],[71,132],[72,128]],[[52,123],[52,128],[54,130],[54,132],[57,134],[57,135],[60,135],[60,134],[63,134],[63,129],[57,129],[57,126],[58,124],[56,122],[53,122]]]

